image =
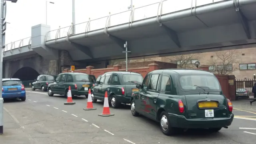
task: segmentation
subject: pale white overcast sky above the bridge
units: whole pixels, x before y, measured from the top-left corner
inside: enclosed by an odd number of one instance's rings
[[[72,22],[72,0],[48,0],[54,4],[47,4],[47,23],[51,30],[58,29],[59,26],[70,26]],[[76,0],[76,24],[103,16],[128,10],[131,0]],[[135,8],[153,4],[160,0],[133,0]],[[221,1],[221,0],[214,0]],[[171,3],[170,3],[171,2]],[[212,0],[197,0],[198,3],[210,3]],[[178,7],[187,7],[191,5],[191,0],[168,0],[166,6],[170,9],[181,9]],[[158,6],[158,5],[157,5]],[[155,9],[156,5],[154,6]],[[141,9],[141,16],[151,17],[156,15],[153,8]],[[129,20],[128,18],[127,22]],[[46,24],[46,0],[18,0],[17,3],[7,2],[6,14],[7,30],[6,44],[31,36],[31,27],[37,24]],[[111,21],[112,22],[112,21]],[[103,22],[104,25],[104,22]],[[94,27],[95,27],[94,23]],[[82,32],[85,28],[82,25],[77,26],[78,31]]]

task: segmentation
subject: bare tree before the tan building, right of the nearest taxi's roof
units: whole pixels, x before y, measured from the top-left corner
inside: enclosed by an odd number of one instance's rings
[[[236,50],[215,52],[215,56],[211,59],[212,66],[209,67],[209,70],[215,71],[217,74],[230,74],[237,69],[233,67],[237,56],[238,52]]]

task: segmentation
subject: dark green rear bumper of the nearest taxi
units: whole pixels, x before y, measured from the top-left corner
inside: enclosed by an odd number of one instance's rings
[[[222,128],[230,126],[234,114],[230,114],[227,118],[211,118],[211,119],[187,119],[185,116],[168,113],[169,118],[172,120],[172,126],[177,128]]]

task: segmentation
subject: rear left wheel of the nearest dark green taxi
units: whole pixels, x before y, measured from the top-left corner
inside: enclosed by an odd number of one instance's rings
[[[167,135],[173,135],[176,133],[175,128],[172,128],[170,124],[170,118],[168,117],[167,112],[163,111],[160,115],[160,128],[162,132]]]

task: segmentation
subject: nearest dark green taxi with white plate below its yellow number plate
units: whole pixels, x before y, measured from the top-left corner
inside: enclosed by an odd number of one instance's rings
[[[166,135],[189,128],[217,132],[231,125],[232,103],[214,74],[203,70],[166,69],[149,72],[131,98],[133,116],[160,122]]]

